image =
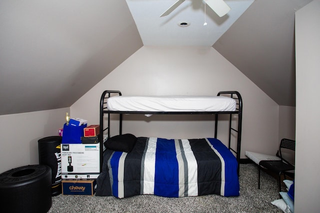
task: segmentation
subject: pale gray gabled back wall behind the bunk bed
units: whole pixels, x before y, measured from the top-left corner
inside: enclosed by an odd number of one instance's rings
[[[274,155],[278,148],[279,106],[212,47],[143,46],[74,103],[71,116],[97,124],[97,101],[106,89],[123,95],[216,95],[237,90],[243,99],[241,158],[246,150]],[[214,123],[208,116],[126,118],[123,131],[137,136],[213,137]],[[116,129],[113,125],[111,134],[117,134]],[[219,125],[218,131],[226,143],[226,126]]]

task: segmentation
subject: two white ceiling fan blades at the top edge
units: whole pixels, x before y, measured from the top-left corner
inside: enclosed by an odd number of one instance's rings
[[[160,17],[168,15],[176,7],[178,7],[184,0],[177,0],[172,6],[165,10]],[[223,0],[204,0],[204,2],[211,7],[211,9],[220,17],[230,11],[230,7]]]

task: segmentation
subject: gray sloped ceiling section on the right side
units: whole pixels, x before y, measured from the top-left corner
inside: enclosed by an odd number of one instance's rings
[[[295,106],[294,12],[311,0],[255,0],[213,44],[278,105]]]

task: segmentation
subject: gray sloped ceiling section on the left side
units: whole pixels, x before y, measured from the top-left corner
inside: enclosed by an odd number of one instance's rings
[[[69,107],[142,45],[125,0],[1,0],[0,115]]]

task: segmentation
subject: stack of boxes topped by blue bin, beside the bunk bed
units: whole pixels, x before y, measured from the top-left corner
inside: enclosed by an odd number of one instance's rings
[[[100,174],[99,125],[75,118],[64,124],[61,142],[62,195],[93,195]]]

